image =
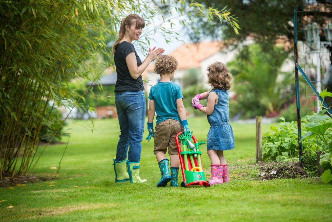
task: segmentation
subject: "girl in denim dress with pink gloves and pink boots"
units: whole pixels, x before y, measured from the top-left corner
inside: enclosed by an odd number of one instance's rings
[[[233,129],[229,124],[228,90],[232,76],[225,64],[215,62],[207,67],[211,91],[196,95],[192,100],[194,109],[207,114],[211,127],[207,134],[207,154],[211,159],[211,185],[229,182],[224,150],[234,148]],[[207,107],[200,100],[207,99]]]

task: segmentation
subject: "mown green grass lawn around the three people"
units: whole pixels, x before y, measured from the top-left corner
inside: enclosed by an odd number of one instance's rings
[[[188,121],[198,140],[206,141],[206,117]],[[0,188],[0,201],[5,200],[0,202],[0,220],[332,220],[331,184],[314,179],[252,179],[258,170],[247,166],[255,158],[255,124],[232,124],[235,149],[225,152],[231,182],[209,188],[157,188],[160,172],[153,141],[145,139],[140,169],[141,178],[148,182],[115,183],[112,158],[119,138],[118,120],[95,120],[93,133],[88,124],[79,121],[68,125],[70,141],[56,180]],[[263,133],[269,128],[263,124]],[[65,144],[49,146],[34,174],[54,174],[56,170],[50,167],[58,166],[64,148]],[[206,146],[201,149],[209,178]],[[52,181],[56,183],[49,183]],[[7,209],[9,205],[14,208]]]

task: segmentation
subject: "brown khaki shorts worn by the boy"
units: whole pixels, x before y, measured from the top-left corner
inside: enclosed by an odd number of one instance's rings
[[[154,134],[154,154],[163,152],[166,154],[178,154],[175,136],[182,131],[181,123],[175,119],[166,119],[156,125]]]

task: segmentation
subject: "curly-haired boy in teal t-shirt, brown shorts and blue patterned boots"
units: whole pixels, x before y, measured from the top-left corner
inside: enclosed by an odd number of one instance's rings
[[[154,154],[159,164],[161,179],[157,187],[166,186],[171,180],[171,186],[178,186],[179,156],[175,136],[181,131],[189,131],[186,110],[183,106],[181,87],[171,82],[178,62],[173,56],[160,55],[155,61],[154,73],[160,75],[160,82],[153,86],[149,94],[149,110],[147,128],[150,141],[154,137]],[[157,113],[156,132],[153,132],[154,113]],[[171,159],[171,174],[166,158],[166,150]]]

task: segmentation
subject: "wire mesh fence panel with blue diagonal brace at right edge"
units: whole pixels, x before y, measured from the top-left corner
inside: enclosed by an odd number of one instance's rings
[[[298,141],[305,133],[310,115],[331,106],[331,98],[323,100],[319,93],[332,91],[332,4],[294,7],[294,62]],[[330,114],[332,113],[329,110]],[[327,113],[328,114],[328,113]],[[332,137],[332,135],[331,135]],[[305,145],[299,142],[299,155],[305,146],[322,149],[317,136]],[[302,146],[303,145],[303,146]]]

